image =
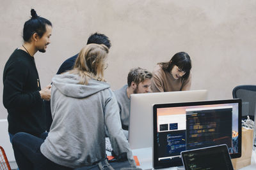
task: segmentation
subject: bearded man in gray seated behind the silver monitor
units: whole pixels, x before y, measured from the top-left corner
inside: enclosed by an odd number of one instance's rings
[[[128,138],[131,94],[150,92],[152,73],[140,67],[132,68],[127,76],[127,85],[114,92],[119,106],[120,118],[124,134]]]

